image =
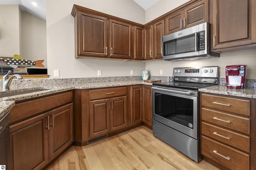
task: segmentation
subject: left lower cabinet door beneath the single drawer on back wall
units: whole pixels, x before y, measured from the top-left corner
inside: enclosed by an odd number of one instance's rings
[[[110,100],[93,100],[89,103],[90,138],[110,131]]]

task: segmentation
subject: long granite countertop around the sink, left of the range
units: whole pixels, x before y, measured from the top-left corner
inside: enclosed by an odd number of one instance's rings
[[[8,96],[0,98],[0,118],[3,117],[8,111],[15,105],[16,101],[25,100],[29,98],[35,98],[39,96],[45,96],[48,94],[54,94],[58,92],[64,92],[73,89],[88,89],[88,88],[105,88],[105,87],[114,87],[114,86],[128,86],[128,85],[137,85],[137,84],[146,84],[152,85],[152,83],[146,83],[141,80],[131,80],[131,81],[116,81],[116,82],[95,82],[95,83],[80,83],[80,84],[62,84],[61,86],[17,86],[11,87],[8,92],[2,92],[1,94],[13,93],[13,92],[22,92],[35,89],[44,89],[39,92],[32,92],[26,94],[19,94],[16,96]]]

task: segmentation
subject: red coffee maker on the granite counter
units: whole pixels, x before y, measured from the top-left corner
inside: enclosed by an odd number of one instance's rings
[[[227,88],[239,89],[245,87],[246,65],[226,66]]]

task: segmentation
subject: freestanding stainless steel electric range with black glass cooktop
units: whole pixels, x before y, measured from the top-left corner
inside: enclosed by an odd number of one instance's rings
[[[218,66],[174,68],[173,82],[153,83],[153,135],[199,162],[198,88],[217,84]]]

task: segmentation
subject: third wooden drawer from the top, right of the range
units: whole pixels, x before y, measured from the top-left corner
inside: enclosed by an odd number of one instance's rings
[[[250,152],[250,137],[202,122],[202,135]]]

